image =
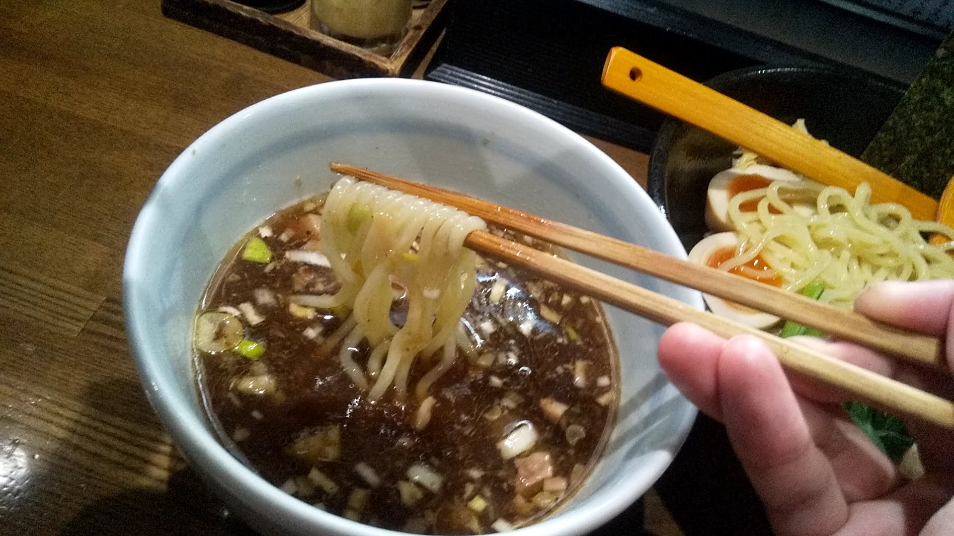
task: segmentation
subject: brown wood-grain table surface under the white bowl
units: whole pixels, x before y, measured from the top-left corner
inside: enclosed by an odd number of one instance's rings
[[[250,532],[143,396],[123,253],[199,134],[326,80],[166,19],[158,0],[0,3],[0,533]],[[645,155],[597,144],[645,178]]]

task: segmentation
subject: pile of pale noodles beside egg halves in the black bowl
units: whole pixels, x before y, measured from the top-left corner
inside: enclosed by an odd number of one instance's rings
[[[812,281],[825,287],[822,299],[850,307],[861,290],[885,279],[918,280],[954,277],[948,252],[954,243],[928,243],[924,235],[954,239],[954,230],[919,221],[898,203],[872,205],[871,188],[861,184],[852,196],[839,187],[805,181],[775,181],[729,200],[729,220],[741,244],[735,258],[719,266],[730,270],[757,256],[798,292]],[[757,210],[739,206],[758,199]],[[814,205],[814,214],[799,214],[798,204]]]

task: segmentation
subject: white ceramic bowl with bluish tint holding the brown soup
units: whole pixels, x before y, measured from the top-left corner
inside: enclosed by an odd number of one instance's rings
[[[506,100],[403,79],[331,82],[283,93],[199,137],[156,183],[123,271],[129,340],[149,400],[193,467],[265,533],[384,536],[266,483],[217,443],[190,352],[198,300],[219,260],[253,225],[328,188],[340,160],[424,180],[684,258],[649,196],[612,159]],[[610,264],[577,261],[701,307],[695,291]],[[695,408],[655,359],[662,328],[608,308],[622,397],[612,440],[570,504],[525,536],[584,534],[632,504],[673,459]]]

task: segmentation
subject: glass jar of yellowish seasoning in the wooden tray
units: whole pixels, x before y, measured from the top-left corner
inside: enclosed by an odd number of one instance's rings
[[[412,0],[311,0],[318,31],[379,53],[404,37]]]

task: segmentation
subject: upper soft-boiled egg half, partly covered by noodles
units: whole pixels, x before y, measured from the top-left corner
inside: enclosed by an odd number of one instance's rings
[[[706,195],[706,226],[713,231],[732,231],[732,222],[729,221],[729,199],[742,192],[766,188],[775,180],[798,182],[806,179],[788,170],[765,164],[755,164],[744,169],[729,168],[719,172],[709,181],[709,191]],[[753,199],[739,205],[739,210],[752,212],[757,206],[758,199]],[[796,205],[793,208],[796,211],[807,211],[806,215],[814,210],[814,207],[810,206]]]

